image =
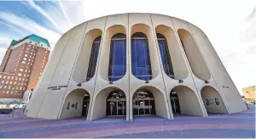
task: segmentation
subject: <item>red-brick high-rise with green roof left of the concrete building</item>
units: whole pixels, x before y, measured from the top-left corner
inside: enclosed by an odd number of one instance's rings
[[[49,51],[49,42],[34,34],[11,42],[0,66],[0,103],[20,100],[37,86]]]

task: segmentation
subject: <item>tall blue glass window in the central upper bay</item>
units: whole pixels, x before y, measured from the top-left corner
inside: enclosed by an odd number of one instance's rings
[[[148,37],[142,32],[131,36],[131,72],[140,80],[152,79]]]

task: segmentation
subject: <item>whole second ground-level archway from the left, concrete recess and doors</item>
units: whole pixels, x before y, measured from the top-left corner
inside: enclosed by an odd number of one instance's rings
[[[106,116],[125,116],[129,120],[127,111],[129,108],[125,92],[117,87],[109,86],[96,94],[92,102],[90,120],[101,119]]]

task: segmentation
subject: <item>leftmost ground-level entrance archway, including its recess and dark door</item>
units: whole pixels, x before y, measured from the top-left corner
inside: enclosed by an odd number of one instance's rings
[[[87,118],[90,108],[90,94],[84,89],[75,89],[64,100],[60,119],[84,117]]]

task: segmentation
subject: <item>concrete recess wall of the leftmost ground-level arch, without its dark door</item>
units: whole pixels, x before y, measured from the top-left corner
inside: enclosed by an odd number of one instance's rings
[[[90,93],[83,88],[74,89],[72,92],[69,92],[64,98],[64,103],[61,106],[61,114],[59,119],[81,117],[84,95],[86,94],[90,97]],[[73,108],[72,106],[75,107]]]

